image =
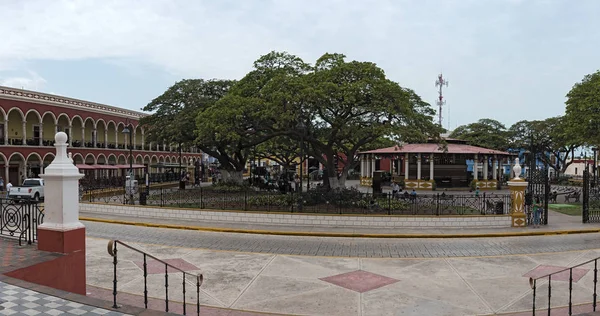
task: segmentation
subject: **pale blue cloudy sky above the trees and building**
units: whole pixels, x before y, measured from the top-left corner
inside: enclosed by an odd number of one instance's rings
[[[375,62],[443,126],[564,114],[600,68],[597,0],[0,0],[0,85],[140,110],[270,51]],[[437,110],[437,106],[436,110]]]

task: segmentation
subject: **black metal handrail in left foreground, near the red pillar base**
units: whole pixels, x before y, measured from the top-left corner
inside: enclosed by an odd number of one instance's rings
[[[186,280],[186,275],[187,276],[191,276],[192,278],[196,279],[196,314],[200,315],[200,285],[202,285],[202,282],[204,281],[204,276],[202,274],[192,274],[189,272],[185,272],[182,269],[167,263],[151,254],[148,254],[140,249],[137,249],[131,245],[128,245],[120,240],[110,240],[108,242],[108,246],[107,246],[107,250],[108,250],[108,254],[110,256],[113,257],[113,308],[119,308],[119,306],[117,305],[117,244],[120,244],[130,250],[133,250],[137,253],[140,253],[144,256],[144,307],[146,309],[148,309],[148,283],[147,283],[147,278],[148,278],[148,267],[147,267],[147,258],[151,258],[154,259],[158,262],[160,262],[161,264],[163,264],[165,266],[165,312],[169,312],[169,268],[174,269],[176,271],[179,271],[182,273],[183,275],[183,315],[186,315],[187,313],[187,304],[186,304],[186,297],[185,297],[185,280]]]

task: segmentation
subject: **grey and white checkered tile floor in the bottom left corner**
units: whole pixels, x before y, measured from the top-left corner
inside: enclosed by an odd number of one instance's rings
[[[0,315],[127,315],[0,282]]]

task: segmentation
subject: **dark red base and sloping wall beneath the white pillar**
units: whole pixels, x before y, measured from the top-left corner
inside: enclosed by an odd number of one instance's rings
[[[86,295],[85,228],[38,229],[38,250],[65,254],[51,261],[6,273],[7,276]]]

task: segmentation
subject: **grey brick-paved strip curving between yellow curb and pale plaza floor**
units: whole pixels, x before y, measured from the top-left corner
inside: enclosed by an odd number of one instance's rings
[[[89,237],[236,252],[361,258],[502,256],[588,250],[600,234],[506,238],[343,238],[214,233],[84,222]]]

